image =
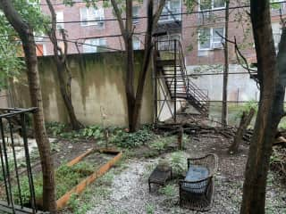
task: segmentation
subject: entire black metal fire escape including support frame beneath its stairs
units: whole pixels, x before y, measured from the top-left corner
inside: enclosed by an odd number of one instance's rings
[[[165,111],[176,123],[178,108],[187,102],[201,115],[208,115],[208,95],[189,79],[179,40],[155,41],[154,68],[156,123]]]

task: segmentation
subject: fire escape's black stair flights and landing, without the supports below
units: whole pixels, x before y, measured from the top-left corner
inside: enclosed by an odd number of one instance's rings
[[[208,115],[208,95],[189,79],[179,40],[156,41],[156,76],[164,79],[172,100],[184,99],[201,115]]]

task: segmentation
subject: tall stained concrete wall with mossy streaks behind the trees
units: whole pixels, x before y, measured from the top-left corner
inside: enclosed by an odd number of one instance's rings
[[[136,52],[138,77],[142,52]],[[90,53],[68,56],[71,69],[71,96],[78,119],[85,125],[100,124],[102,108],[107,115],[105,124],[128,124],[124,87],[124,62],[122,53]],[[68,116],[59,90],[59,82],[53,57],[39,58],[39,74],[42,86],[46,121],[67,122]],[[13,98],[19,107],[29,106],[26,75],[13,84]],[[149,71],[140,115],[141,123],[153,121],[152,75]]]

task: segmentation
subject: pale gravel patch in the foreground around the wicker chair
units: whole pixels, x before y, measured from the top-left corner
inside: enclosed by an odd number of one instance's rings
[[[133,161],[129,168],[114,178],[111,193],[102,202],[99,202],[88,214],[112,213],[199,213],[181,209],[178,206],[178,196],[168,196],[158,191],[148,192],[147,175],[150,166],[156,161]],[[271,181],[270,181],[271,182]],[[178,195],[177,185],[173,185]],[[242,182],[230,181],[226,177],[215,178],[214,204],[212,210],[206,213],[234,214],[239,213]],[[282,202],[282,189],[268,188],[266,213],[285,214],[285,202]],[[285,193],[284,193],[285,197]],[[284,198],[285,200],[285,198]],[[95,197],[95,203],[97,203]]]

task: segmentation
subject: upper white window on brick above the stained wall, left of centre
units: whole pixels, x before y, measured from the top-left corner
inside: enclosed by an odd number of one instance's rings
[[[103,26],[105,19],[104,8],[95,9],[94,7],[82,7],[80,8],[80,21],[81,26],[97,25]]]

